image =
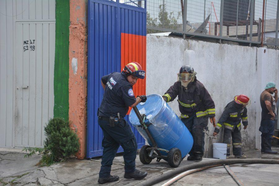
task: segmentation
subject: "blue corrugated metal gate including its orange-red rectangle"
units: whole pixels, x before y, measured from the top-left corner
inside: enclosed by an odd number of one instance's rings
[[[91,0],[88,3],[88,124],[87,157],[102,155],[102,130],[97,109],[103,98],[100,78],[121,72],[124,65],[136,61],[146,67],[146,10],[130,5]],[[145,94],[145,80],[134,87],[135,95]],[[125,118],[128,121],[128,115]],[[138,147],[144,139],[132,127]],[[123,151],[120,147],[118,152]]]

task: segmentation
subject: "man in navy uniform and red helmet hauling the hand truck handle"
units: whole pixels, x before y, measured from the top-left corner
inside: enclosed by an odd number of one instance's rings
[[[127,64],[121,73],[114,72],[101,78],[104,96],[98,110],[98,123],[103,130],[103,157],[98,182],[104,184],[114,182],[118,176],[110,175],[111,165],[119,145],[124,150],[126,179],[143,179],[147,172],[135,169],[137,142],[131,126],[125,121],[129,106],[134,107],[146,101],[146,96],[135,98],[133,85],[138,78],[144,79],[145,71],[132,62]]]

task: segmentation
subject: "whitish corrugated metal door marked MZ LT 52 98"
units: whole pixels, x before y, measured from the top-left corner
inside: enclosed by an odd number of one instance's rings
[[[16,147],[43,146],[53,117],[54,55],[55,23],[16,22]]]

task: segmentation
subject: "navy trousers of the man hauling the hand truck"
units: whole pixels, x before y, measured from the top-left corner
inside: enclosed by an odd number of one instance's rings
[[[102,141],[104,149],[99,177],[105,178],[110,175],[113,159],[119,145],[121,145],[124,150],[125,172],[134,172],[138,145],[135,135],[131,130],[131,126],[124,119],[121,122],[115,122],[114,127],[111,127],[108,121],[101,119],[98,119],[98,123],[104,134],[104,139]]]

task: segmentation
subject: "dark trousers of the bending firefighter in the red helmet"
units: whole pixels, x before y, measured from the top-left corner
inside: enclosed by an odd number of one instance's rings
[[[240,133],[240,131],[237,127],[234,127],[233,130],[230,130],[228,128],[224,129],[223,143],[228,144],[230,146],[231,138],[232,138],[232,152],[233,152],[233,155],[242,154],[241,133]],[[237,145],[235,145],[235,144],[237,144]],[[227,155],[230,155],[230,148],[227,148]]]

